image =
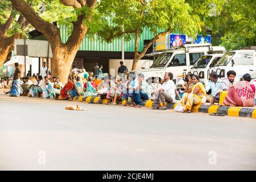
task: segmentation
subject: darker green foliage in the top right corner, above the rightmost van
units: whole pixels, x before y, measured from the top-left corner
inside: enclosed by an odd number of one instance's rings
[[[256,4],[230,0],[220,15],[221,45],[228,50],[256,45]]]

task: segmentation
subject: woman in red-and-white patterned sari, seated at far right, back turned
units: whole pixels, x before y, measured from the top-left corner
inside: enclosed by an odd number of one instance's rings
[[[251,76],[243,75],[243,81],[234,84],[230,89],[222,106],[253,107],[255,105],[255,86],[250,84]]]

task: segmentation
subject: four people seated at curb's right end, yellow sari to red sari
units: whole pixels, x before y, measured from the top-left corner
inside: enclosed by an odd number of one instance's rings
[[[236,72],[229,71],[224,80],[218,78],[216,72],[209,75],[210,81],[207,87],[199,82],[197,75],[190,75],[189,80],[184,86],[185,92],[180,101],[184,113],[191,112],[193,105],[205,104],[210,105],[220,102],[220,92],[226,91],[225,100],[220,103],[221,106],[242,106],[253,107],[256,105],[256,80],[252,80],[251,76],[246,73],[242,80],[235,82]]]

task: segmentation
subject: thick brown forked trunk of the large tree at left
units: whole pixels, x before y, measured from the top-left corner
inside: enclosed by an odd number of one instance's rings
[[[58,76],[62,82],[67,81],[68,73],[76,56],[76,52],[88,30],[97,0],[48,0],[49,7],[59,11],[58,6],[72,7],[68,20],[72,23],[72,31],[66,43],[61,41],[60,29],[48,19],[43,19],[24,0],[10,0],[14,9],[18,10],[36,30],[42,32],[51,44],[53,54],[52,75]],[[60,3],[60,5],[58,5]]]

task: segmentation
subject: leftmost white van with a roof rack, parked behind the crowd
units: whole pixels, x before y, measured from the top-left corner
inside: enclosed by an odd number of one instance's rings
[[[130,71],[128,73],[143,73],[148,84],[157,83],[159,78],[164,77],[165,72],[174,74],[174,81],[177,77],[187,76],[191,67],[199,57],[211,53],[224,53],[225,47],[205,44],[186,44],[182,47],[172,47],[167,51],[153,52],[147,56],[153,56],[153,64],[148,69]],[[156,58],[157,57],[157,58]]]

